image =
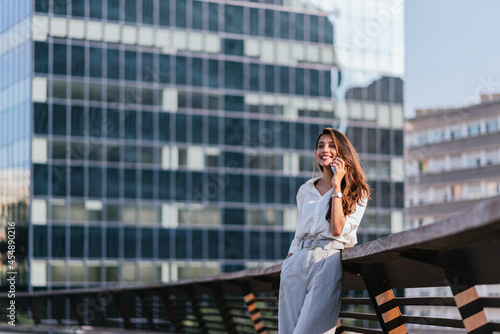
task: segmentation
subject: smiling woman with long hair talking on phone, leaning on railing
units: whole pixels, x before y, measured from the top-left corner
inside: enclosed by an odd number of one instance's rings
[[[358,155],[345,135],[325,128],[315,155],[323,176],[307,181],[297,193],[297,230],[281,270],[280,334],[335,333],[341,249],[356,244],[370,198]]]

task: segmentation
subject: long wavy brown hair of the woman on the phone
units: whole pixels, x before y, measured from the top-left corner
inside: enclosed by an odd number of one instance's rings
[[[370,199],[370,186],[366,182],[365,172],[361,168],[358,153],[346,135],[333,128],[324,128],[318,139],[316,139],[316,150],[318,149],[319,139],[323,135],[332,137],[337,155],[345,162],[346,174],[340,187],[342,191],[342,209],[344,216],[348,216],[354,213],[356,204],[362,205],[361,200],[368,201]],[[323,167],[320,164],[318,164],[318,167],[323,173]],[[331,215],[332,201],[328,204],[326,220],[330,221]]]

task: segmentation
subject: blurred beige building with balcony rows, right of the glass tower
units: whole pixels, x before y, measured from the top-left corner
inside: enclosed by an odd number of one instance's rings
[[[500,195],[500,100],[456,109],[419,109],[406,123],[406,228],[415,228],[467,211]],[[477,286],[481,297],[500,296],[500,286]],[[406,289],[406,297],[447,296],[448,287]],[[416,316],[460,319],[458,310],[407,306]],[[498,309],[487,308],[490,321]],[[416,327],[418,328],[418,326]],[[459,332],[438,330],[433,333]]]

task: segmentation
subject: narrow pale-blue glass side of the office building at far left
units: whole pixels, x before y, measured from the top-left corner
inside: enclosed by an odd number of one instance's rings
[[[31,178],[31,2],[0,2],[0,279],[16,272],[16,289],[28,288]],[[9,226],[15,223],[14,229]],[[14,232],[14,234],[12,233]],[[15,264],[7,250],[15,245]],[[10,275],[10,274],[9,274]]]

